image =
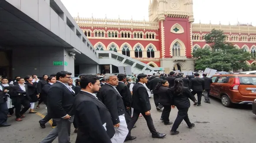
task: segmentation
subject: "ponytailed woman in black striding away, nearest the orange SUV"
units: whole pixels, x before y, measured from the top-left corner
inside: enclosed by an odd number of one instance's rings
[[[178,109],[178,115],[173,123],[171,134],[177,135],[179,134],[177,129],[183,120],[187,123],[189,129],[192,129],[195,126],[194,123],[189,121],[188,108],[190,107],[189,99],[196,103],[196,98],[192,95],[187,87],[183,86],[183,81],[180,78],[174,80],[174,86],[171,87],[170,90],[172,105],[175,105]]]

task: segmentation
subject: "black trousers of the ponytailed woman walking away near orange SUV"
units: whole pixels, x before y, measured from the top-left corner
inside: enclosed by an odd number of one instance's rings
[[[177,131],[177,129],[179,128],[179,125],[181,124],[181,122],[184,120],[188,127],[191,127],[191,122],[189,121],[188,118],[188,108],[179,108],[177,107],[178,111],[178,115],[177,118],[175,119],[174,123],[173,123],[173,127],[171,129],[172,132]]]

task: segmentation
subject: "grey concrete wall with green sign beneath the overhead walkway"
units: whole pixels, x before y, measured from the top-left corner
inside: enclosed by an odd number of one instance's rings
[[[36,74],[50,75],[59,71],[68,71],[74,75],[74,59],[61,47],[14,48],[12,57],[13,76]],[[63,65],[53,65],[53,61],[63,61]],[[64,65],[64,62],[68,65]]]

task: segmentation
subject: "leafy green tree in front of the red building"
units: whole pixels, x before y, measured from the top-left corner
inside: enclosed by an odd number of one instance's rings
[[[206,43],[211,48],[198,49],[192,53],[196,70],[213,68],[228,72],[248,68],[246,61],[251,59],[251,54],[237,49],[225,39],[224,32],[215,29],[205,36]]]

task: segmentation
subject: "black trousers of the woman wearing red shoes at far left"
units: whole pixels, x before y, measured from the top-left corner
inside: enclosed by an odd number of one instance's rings
[[[26,96],[20,95],[16,97],[15,100],[15,116],[16,118],[20,118],[22,114],[24,114],[30,108],[30,101],[27,99]],[[21,110],[21,105],[23,105],[23,109]]]

